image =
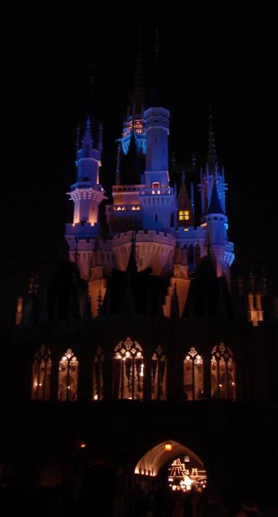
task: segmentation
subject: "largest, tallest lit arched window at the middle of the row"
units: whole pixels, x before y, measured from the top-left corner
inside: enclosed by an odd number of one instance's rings
[[[115,398],[143,398],[144,363],[142,347],[127,338],[114,349],[113,393]]]

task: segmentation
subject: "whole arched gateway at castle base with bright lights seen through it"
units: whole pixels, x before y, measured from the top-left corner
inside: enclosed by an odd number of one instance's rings
[[[147,451],[134,469],[135,506],[156,515],[175,504],[184,508],[206,488],[206,469],[191,449],[175,440],[161,442]],[[165,510],[166,511],[166,510]],[[135,511],[136,514],[136,511]]]

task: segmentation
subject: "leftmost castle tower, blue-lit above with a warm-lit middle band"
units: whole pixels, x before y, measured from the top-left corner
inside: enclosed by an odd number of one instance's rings
[[[65,239],[69,244],[69,259],[76,262],[81,278],[89,278],[89,270],[95,239],[99,234],[98,207],[105,198],[99,183],[101,165],[102,128],[98,146],[94,148],[91,123],[87,119],[85,133],[76,142],[77,181],[71,186],[70,199],[74,201],[74,219],[66,225]]]

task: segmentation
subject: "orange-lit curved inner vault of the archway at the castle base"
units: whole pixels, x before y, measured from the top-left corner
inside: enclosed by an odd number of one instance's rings
[[[171,451],[165,451],[165,442],[156,445],[156,447],[150,449],[138,461],[134,473],[140,474],[141,476],[157,476],[161,467],[163,467],[165,463],[170,462],[173,458],[180,456],[180,454],[190,456],[197,463],[200,463],[200,465],[204,466],[204,463],[202,463],[200,458],[198,458],[198,456],[190,449],[173,440],[167,441],[173,445]]]

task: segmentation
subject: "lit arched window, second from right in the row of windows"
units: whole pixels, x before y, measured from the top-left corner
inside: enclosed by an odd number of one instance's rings
[[[184,394],[189,401],[204,396],[204,363],[194,347],[184,359]]]

